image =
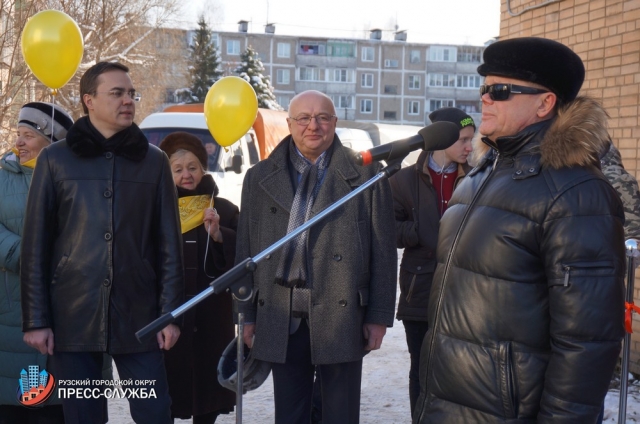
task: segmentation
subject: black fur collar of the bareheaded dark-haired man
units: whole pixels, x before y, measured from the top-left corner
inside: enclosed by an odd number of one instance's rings
[[[111,151],[134,162],[144,159],[149,150],[149,142],[136,124],[107,139],[91,124],[88,116],[78,119],[69,129],[67,144],[81,157],[94,157]]]

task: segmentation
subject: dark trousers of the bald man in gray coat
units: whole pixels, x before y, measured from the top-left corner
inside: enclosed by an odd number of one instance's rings
[[[357,424],[360,420],[362,360],[314,366],[306,320],[289,336],[287,361],[272,364],[276,424],[311,422],[314,370],[322,379],[322,423]]]

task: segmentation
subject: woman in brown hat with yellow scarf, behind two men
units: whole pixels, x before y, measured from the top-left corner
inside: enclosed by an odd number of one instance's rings
[[[159,147],[169,157],[178,190],[188,300],[233,267],[239,210],[217,197],[218,187],[205,172],[208,156],[200,139],[176,132]],[[165,352],[173,418],[193,416],[195,424],[209,424],[233,411],[235,393],[220,386],[216,370],[234,337],[229,293],[211,295],[184,314],[180,339]]]

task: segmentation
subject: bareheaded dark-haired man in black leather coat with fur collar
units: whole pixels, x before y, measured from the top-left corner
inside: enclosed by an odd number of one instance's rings
[[[80,94],[88,116],[41,152],[33,173],[20,269],[24,340],[52,355],[49,371],[65,389],[81,391],[61,396],[67,423],[106,422],[94,382],[103,352],[131,380],[123,388],[137,390],[134,421],[171,423],[160,349],[180,330],[170,324],[147,343],[135,337],[183,301],[169,161],[133,123],[139,96],[126,66],[97,63]]]

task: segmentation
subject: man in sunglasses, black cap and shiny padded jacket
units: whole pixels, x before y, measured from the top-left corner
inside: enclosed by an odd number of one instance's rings
[[[440,221],[414,423],[594,423],[624,334],[607,115],[558,42],[498,41],[478,72],[484,156]]]

